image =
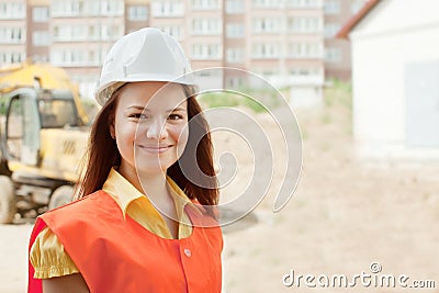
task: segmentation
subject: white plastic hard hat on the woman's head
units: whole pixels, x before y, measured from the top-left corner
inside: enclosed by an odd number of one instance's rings
[[[195,86],[189,59],[180,44],[154,27],[124,35],[111,47],[94,97],[103,105],[117,88],[134,81]]]

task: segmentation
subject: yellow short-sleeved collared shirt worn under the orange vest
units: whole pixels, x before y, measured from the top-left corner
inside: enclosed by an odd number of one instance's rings
[[[184,206],[192,202],[172,179],[168,177],[167,182],[179,218],[178,237],[180,239],[189,237],[192,234],[192,226],[183,224],[190,223],[189,216],[184,212]],[[102,190],[113,198],[121,207],[124,216],[127,214],[143,227],[159,237],[172,238],[168,225],[148,198],[116,170],[111,169]],[[31,248],[30,260],[35,269],[34,278],[36,279],[47,279],[79,272],[74,261],[64,250],[64,246],[58,237],[47,227],[36,237]]]

